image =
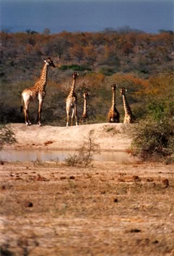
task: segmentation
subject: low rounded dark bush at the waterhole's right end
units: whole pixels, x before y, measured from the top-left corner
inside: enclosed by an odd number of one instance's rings
[[[142,161],[164,160],[174,153],[174,124],[172,121],[142,120],[130,128],[131,150]]]

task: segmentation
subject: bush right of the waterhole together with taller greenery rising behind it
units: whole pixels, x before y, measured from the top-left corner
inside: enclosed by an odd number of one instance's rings
[[[161,78],[158,78],[161,88],[156,88],[156,94],[151,94],[147,101],[145,118],[129,132],[133,138],[133,155],[143,161],[165,160],[170,163],[174,161],[174,84],[170,77]]]

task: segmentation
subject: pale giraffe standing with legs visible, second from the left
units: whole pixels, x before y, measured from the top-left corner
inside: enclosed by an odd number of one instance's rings
[[[77,125],[77,96],[74,93],[77,77],[78,77],[77,72],[73,72],[73,74],[72,74],[72,78],[73,78],[72,87],[71,87],[69,96],[67,96],[67,98],[66,98],[66,114],[67,114],[66,126],[69,126],[69,118],[70,118],[71,108],[72,108],[71,126],[72,126],[72,121],[73,121],[73,115],[75,115],[76,125]]]

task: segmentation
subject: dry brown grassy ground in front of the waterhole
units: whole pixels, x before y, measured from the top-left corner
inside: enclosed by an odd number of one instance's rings
[[[171,165],[5,163],[0,174],[2,255],[174,253]]]

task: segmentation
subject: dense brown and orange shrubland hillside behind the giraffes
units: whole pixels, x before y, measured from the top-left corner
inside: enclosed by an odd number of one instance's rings
[[[173,33],[147,34],[132,29],[98,33],[49,35],[1,32],[0,121],[23,122],[21,92],[33,86],[40,76],[43,59],[50,56],[56,69],[50,69],[42,119],[45,124],[64,126],[65,99],[71,87],[71,74],[79,72],[76,92],[78,117],[83,112],[82,90],[90,90],[89,123],[107,121],[111,105],[111,84],[127,88],[127,98],[138,120],[170,108],[173,115]],[[170,103],[166,103],[169,99]],[[117,109],[123,120],[122,98],[116,91]],[[167,104],[167,106],[166,106]],[[30,105],[33,122],[36,103]],[[159,113],[160,115],[160,113]]]

